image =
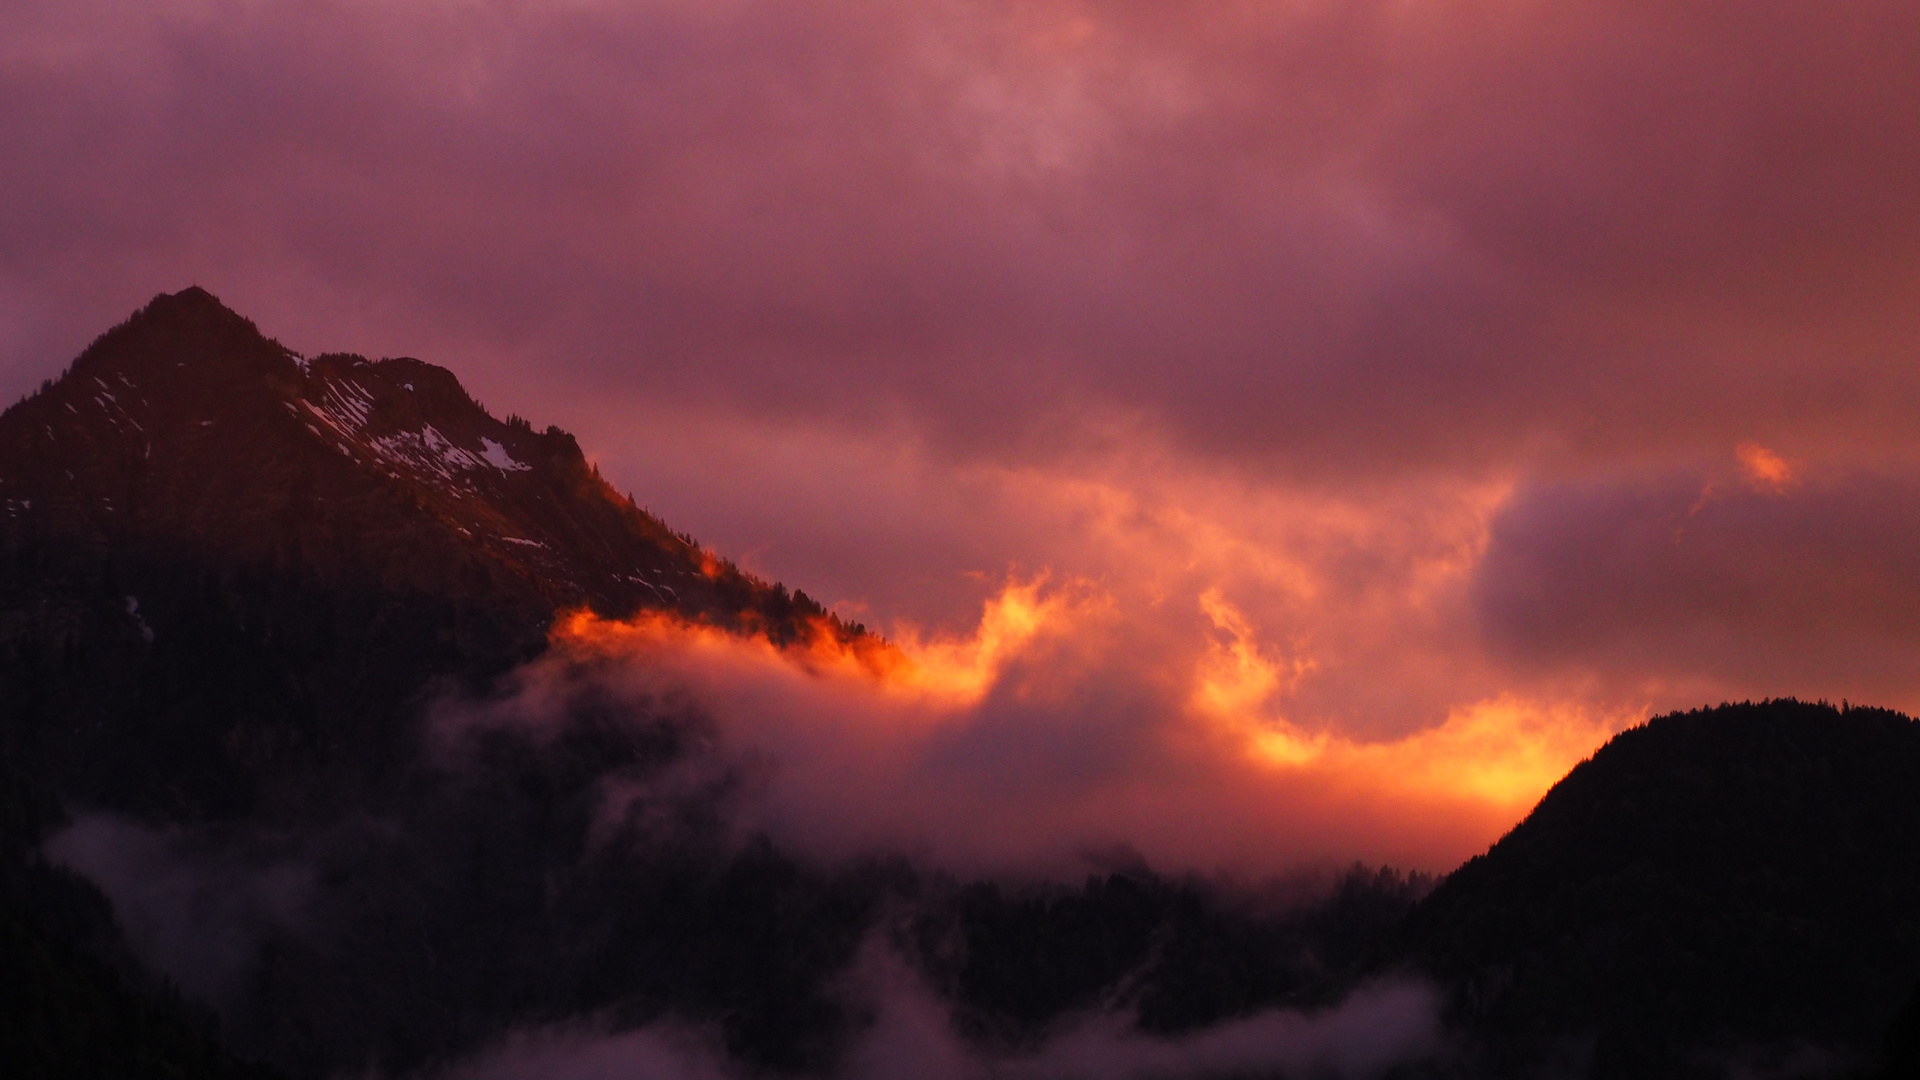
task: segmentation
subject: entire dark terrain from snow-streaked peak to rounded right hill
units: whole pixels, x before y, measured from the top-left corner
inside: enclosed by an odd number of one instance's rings
[[[1920,1005],[1895,1022],[1920,980],[1907,717],[1655,719],[1438,888],[966,882],[781,851],[697,703],[589,671],[553,676],[538,730],[430,730],[574,607],[864,634],[438,367],[303,359],[202,290],[94,342],[0,415],[0,1051],[257,1074],[217,1013],[290,1074],[405,1074],[591,1017],[829,1076],[881,942],[983,1061],[1089,1015],[1198,1032],[1415,970],[1455,1036],[1419,1074],[1839,1074],[1889,1032],[1920,1063]]]

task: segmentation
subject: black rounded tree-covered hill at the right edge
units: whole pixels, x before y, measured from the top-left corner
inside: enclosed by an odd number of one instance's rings
[[[1864,1067],[1920,980],[1920,723],[1791,700],[1653,719],[1398,940],[1494,1076]]]

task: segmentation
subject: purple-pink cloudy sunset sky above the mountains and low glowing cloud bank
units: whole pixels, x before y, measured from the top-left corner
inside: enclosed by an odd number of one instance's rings
[[[1916,709],[1916,102],[1905,0],[12,0],[0,394],[198,282],[1283,732]]]

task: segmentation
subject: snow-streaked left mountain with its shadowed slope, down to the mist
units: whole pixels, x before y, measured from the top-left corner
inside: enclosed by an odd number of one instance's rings
[[[0,415],[0,738],[63,798],[221,817],[313,798],[321,765],[338,790],[403,753],[428,682],[482,684],[570,607],[856,634],[566,432],[417,359],[301,359],[200,288]]]

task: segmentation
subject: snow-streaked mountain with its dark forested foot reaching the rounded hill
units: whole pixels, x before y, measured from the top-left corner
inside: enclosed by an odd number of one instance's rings
[[[0,796],[33,811],[0,853],[0,928],[23,934],[0,945],[38,957],[69,1028],[159,1032],[163,1061],[205,1047],[175,1038],[196,1020],[161,976],[296,1076],[660,1019],[820,1074],[870,1020],[845,982],[876,934],[1018,1049],[1106,1007],[1177,1032],[1332,1001],[1425,890],[1354,872],[1256,903],[1144,867],[1071,888],[808,865],[735,828],[758,765],[697,703],[609,700],[566,665],[551,738],[428,751],[436,701],[511,692],[582,607],[874,646],[444,369],[309,359],[204,290],[156,298],[0,415]],[[609,817],[611,792],[647,798]],[[127,1007],[180,1017],[129,1028]]]

